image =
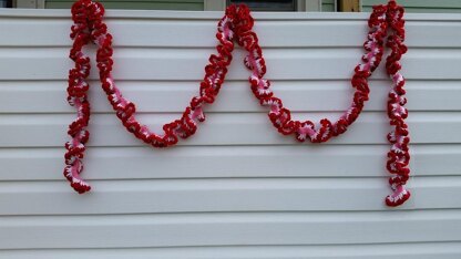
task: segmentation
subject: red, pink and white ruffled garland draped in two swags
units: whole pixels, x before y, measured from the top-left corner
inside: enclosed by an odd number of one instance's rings
[[[83,53],[82,48],[90,42],[99,48],[96,62],[102,89],[122,124],[144,143],[153,147],[168,147],[175,145],[180,138],[192,136],[197,130],[197,123],[205,121],[203,107],[212,104],[219,93],[227,74],[227,66],[233,58],[234,41],[248,52],[244,63],[252,72],[248,79],[250,89],[260,105],[269,108],[268,116],[273,125],[284,135],[293,134],[299,142],[310,141],[311,143],[324,143],[345,133],[360,115],[370,92],[368,79],[381,62],[386,41],[386,46],[391,50],[386,59],[386,70],[392,81],[388,101],[388,116],[392,126],[388,141],[391,149],[388,153],[387,168],[393,175],[389,179],[392,194],[386,198],[386,204],[395,207],[409,199],[410,191],[407,190],[406,183],[410,174],[408,168],[410,139],[408,126],[404,123],[408,116],[408,111],[404,108],[407,103],[403,90],[404,79],[400,74],[400,59],[407,52],[407,46],[403,44],[403,8],[395,0],[390,0],[386,6],[373,7],[368,21],[367,41],[363,44],[366,54],[361,63],[355,68],[351,79],[355,94],[350,107],[336,122],[324,118],[318,125],[311,121],[303,122],[291,118],[291,112],[283,105],[280,99],[275,96],[270,82],[264,79],[266,64],[258,38],[252,30],[254,19],[249,9],[243,4],[228,7],[217,25],[217,54],[209,56],[209,64],[205,66],[205,76],[199,85],[199,94],[191,100],[180,118],[163,126],[162,134],[150,131],[146,125],[136,120],[136,106],[126,100],[115,85],[111,74],[114,64],[112,35],[107,32],[107,25],[102,21],[103,15],[102,4],[92,0],[79,0],[72,7],[74,24],[71,38],[74,42],[70,58],[75,62],[75,66],[69,73],[68,101],[70,105],[75,106],[78,117],[69,125],[68,133],[71,141],[65,144],[64,176],[78,193],[83,194],[91,189],[90,185],[80,177],[83,170],[85,144],[90,136],[86,130],[90,120],[89,83],[86,82],[90,74],[90,58]]]

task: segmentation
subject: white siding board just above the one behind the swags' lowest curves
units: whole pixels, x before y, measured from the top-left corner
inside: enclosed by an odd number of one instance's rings
[[[66,102],[66,84],[65,81],[0,81],[0,113],[75,113]],[[101,84],[98,81],[90,84],[92,112],[112,112]],[[192,96],[198,94],[198,85],[197,81],[117,83],[124,96],[135,102],[137,111],[143,113],[183,112]],[[354,94],[349,81],[273,81],[272,86],[294,112],[341,112],[350,105]],[[370,101],[365,110],[385,111],[390,82],[373,80],[370,89]],[[406,89],[409,111],[461,111],[458,81],[408,81]],[[264,111],[247,81],[224,83],[216,102],[206,107],[208,113]]]

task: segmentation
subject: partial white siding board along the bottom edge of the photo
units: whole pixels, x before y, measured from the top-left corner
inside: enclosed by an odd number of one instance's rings
[[[329,246],[235,246],[125,249],[0,250],[9,259],[459,259],[461,242],[329,245]]]

